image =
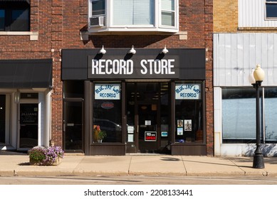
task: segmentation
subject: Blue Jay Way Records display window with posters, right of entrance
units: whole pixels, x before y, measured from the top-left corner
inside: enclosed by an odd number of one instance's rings
[[[202,84],[175,84],[175,142],[203,141]]]

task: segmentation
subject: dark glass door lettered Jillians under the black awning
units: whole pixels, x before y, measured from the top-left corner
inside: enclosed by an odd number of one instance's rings
[[[19,148],[38,146],[38,104],[21,103],[19,109]]]

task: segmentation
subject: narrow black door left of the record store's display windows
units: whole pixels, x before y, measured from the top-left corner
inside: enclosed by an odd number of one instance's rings
[[[83,152],[83,99],[64,99],[63,103],[64,150]]]

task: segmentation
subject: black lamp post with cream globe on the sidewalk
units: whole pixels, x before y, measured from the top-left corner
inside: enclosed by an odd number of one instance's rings
[[[264,79],[264,72],[261,65],[257,65],[249,75],[251,85],[256,89],[256,151],[254,155],[253,168],[264,168],[263,154],[261,152],[261,127],[260,127],[260,92],[261,82]]]

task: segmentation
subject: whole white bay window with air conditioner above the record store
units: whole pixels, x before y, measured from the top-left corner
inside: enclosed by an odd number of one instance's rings
[[[178,31],[178,0],[88,0],[89,31]]]

